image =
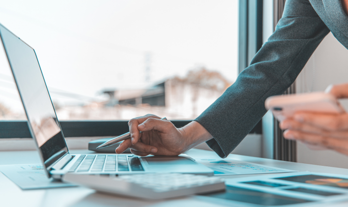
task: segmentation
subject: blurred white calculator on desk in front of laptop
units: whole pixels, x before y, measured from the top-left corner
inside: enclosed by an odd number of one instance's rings
[[[82,175],[67,173],[63,181],[99,192],[137,197],[167,199],[225,190],[220,177],[182,173],[147,173],[135,175]]]

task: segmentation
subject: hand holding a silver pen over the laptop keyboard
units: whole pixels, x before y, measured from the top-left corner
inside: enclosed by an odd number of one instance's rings
[[[119,154],[131,148],[131,152],[139,156],[149,154],[176,156],[203,142],[205,140],[203,138],[207,137],[200,136],[205,129],[197,122],[191,122],[177,129],[172,122],[160,119],[152,114],[131,119],[128,122],[131,138],[124,140],[116,148],[116,153]],[[192,133],[194,129],[197,129],[194,128],[197,124],[204,130]],[[139,131],[143,133],[140,134]]]

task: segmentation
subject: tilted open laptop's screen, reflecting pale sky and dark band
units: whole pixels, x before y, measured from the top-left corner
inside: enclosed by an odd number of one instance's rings
[[[0,36],[29,130],[47,170],[68,152],[34,49],[0,24]]]

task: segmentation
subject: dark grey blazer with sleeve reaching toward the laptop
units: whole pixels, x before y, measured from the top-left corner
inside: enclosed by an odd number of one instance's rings
[[[226,157],[266,113],[267,97],[283,93],[324,37],[332,32],[348,48],[348,16],[341,0],[286,0],[274,33],[236,82],[195,121],[214,138],[207,144]]]

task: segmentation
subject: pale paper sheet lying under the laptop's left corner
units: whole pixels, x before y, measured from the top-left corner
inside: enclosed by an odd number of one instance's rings
[[[48,178],[41,164],[0,165],[0,171],[22,190],[76,186]]]

